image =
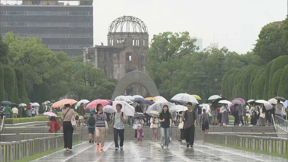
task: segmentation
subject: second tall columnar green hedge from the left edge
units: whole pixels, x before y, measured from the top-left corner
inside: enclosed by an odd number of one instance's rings
[[[4,89],[7,92],[7,100],[10,102],[14,102],[15,95],[15,85],[16,85],[16,75],[14,69],[9,66],[4,66]]]

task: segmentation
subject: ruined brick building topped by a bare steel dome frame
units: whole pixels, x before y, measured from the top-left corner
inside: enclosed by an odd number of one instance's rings
[[[136,17],[124,15],[109,25],[107,46],[101,43],[94,48],[83,48],[83,61],[104,69],[106,77],[118,81],[131,71],[146,73],[148,41],[146,24]],[[146,90],[134,84],[126,89],[125,94],[145,97]]]

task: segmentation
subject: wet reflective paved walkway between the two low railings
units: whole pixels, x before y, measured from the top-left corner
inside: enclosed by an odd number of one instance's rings
[[[162,149],[159,141],[125,141],[124,150],[114,150],[113,142],[106,142],[104,151],[96,151],[96,144],[84,142],[69,152],[64,149],[34,161],[285,161],[276,156],[241,151],[195,141],[194,149],[186,148],[185,143],[172,141]]]

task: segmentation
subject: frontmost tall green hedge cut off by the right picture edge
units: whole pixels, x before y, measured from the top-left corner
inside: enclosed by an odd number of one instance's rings
[[[282,76],[278,85],[277,96],[288,99],[288,65],[283,69]]]

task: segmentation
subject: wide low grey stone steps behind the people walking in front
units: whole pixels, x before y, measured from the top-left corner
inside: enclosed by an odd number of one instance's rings
[[[17,135],[8,135],[8,136],[0,136],[0,141],[20,141],[24,139],[34,139],[40,137],[46,137],[49,135],[19,135],[19,133],[49,133],[49,127],[10,127],[4,128],[2,130],[3,134],[17,134]],[[143,140],[151,140],[151,133],[150,127],[143,127],[143,131],[145,133]],[[243,132],[243,133],[273,133],[275,132],[274,128],[271,126],[267,127],[246,127],[246,126],[239,126],[239,127],[219,127],[219,126],[210,126],[210,132]],[[62,133],[62,128],[58,131],[58,133]],[[88,128],[87,127],[77,127],[77,130],[74,133],[79,134],[79,140],[88,140]],[[136,140],[134,138],[135,130],[132,127],[125,127],[124,131],[124,138],[125,140]],[[263,136],[263,135],[262,135]],[[276,135],[266,135],[266,136],[273,136]],[[180,130],[178,127],[172,128],[172,139],[179,139],[180,137]],[[109,127],[108,135],[105,135],[106,140],[113,140],[113,130]],[[160,128],[158,128],[158,139],[160,139]],[[195,140],[203,140],[203,133],[200,126],[195,128]]]

